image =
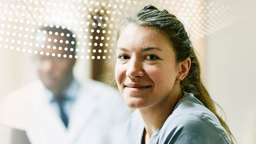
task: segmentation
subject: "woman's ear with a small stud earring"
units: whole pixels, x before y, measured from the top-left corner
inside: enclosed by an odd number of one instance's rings
[[[179,73],[177,75],[178,80],[181,81],[188,75],[190,66],[191,66],[191,60],[189,57],[179,64]]]

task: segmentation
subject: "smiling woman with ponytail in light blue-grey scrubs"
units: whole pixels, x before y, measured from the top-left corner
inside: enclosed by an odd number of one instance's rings
[[[129,144],[230,144],[201,82],[200,66],[183,24],[147,5],[117,35],[115,77],[130,108]]]

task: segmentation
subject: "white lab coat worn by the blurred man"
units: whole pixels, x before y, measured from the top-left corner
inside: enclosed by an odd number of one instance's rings
[[[129,115],[118,91],[92,80],[81,85],[68,129],[45,99],[40,81],[12,92],[0,103],[0,122],[26,130],[32,144],[122,144]]]

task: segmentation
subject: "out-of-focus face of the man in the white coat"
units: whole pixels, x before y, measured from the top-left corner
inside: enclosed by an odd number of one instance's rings
[[[70,52],[70,45],[65,43],[67,40],[65,36],[43,33],[39,33],[37,36],[39,40],[36,43],[39,44],[39,48],[36,55],[36,64],[39,77],[48,90],[54,94],[59,94],[70,83],[76,60],[74,56],[69,58],[72,52]],[[45,37],[44,41],[42,40],[43,37]],[[63,41],[62,43],[61,40]],[[44,46],[43,48],[41,48],[42,45]],[[64,50],[65,47],[68,48],[67,51]],[[43,52],[43,55],[40,52]],[[65,54],[66,58],[63,57]]]

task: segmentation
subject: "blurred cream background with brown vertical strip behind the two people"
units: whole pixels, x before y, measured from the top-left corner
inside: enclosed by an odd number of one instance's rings
[[[256,1],[0,0],[0,101],[38,79],[33,56],[40,46],[33,40],[46,26],[64,26],[75,34],[75,77],[110,84],[116,28],[146,4],[183,22],[206,88],[223,108],[231,132],[239,144],[256,144]],[[11,134],[0,127],[1,143],[9,144]]]

